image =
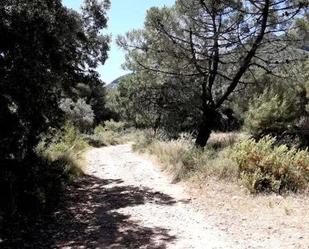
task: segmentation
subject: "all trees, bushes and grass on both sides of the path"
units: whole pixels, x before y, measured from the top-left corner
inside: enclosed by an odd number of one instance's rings
[[[1,233],[54,210],[87,149],[129,142],[175,182],[306,193],[308,1],[151,8],[143,28],[117,38],[132,73],[106,87],[97,68],[109,8],[0,2]]]

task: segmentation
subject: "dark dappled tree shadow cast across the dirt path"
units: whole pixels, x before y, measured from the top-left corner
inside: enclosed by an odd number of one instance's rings
[[[176,240],[164,228],[143,227],[119,208],[145,203],[173,205],[175,200],[148,188],[125,186],[121,180],[84,176],[70,185],[61,207],[7,248],[153,248]],[[10,244],[10,245],[9,245]]]

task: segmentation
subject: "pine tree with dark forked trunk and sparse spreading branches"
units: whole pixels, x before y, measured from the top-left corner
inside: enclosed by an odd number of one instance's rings
[[[188,77],[199,82],[201,110],[196,144],[204,147],[220,122],[224,103],[260,68],[291,63],[278,57],[295,17],[308,1],[178,0],[172,8],[149,10],[143,30],[118,39],[135,72]]]

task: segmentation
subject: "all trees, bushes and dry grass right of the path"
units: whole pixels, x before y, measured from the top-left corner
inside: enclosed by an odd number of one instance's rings
[[[295,4],[179,0],[151,8],[142,29],[118,37],[134,73],[108,91],[108,105],[148,130],[134,148],[175,181],[305,191],[309,16],[307,2]]]

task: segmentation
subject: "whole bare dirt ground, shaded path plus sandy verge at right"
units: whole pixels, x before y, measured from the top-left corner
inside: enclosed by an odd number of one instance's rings
[[[86,175],[57,211],[30,230],[17,227],[1,248],[309,249],[305,196],[249,196],[210,179],[185,188],[129,144],[91,149],[85,159]]]

